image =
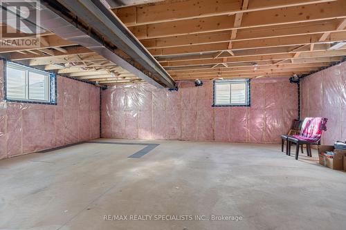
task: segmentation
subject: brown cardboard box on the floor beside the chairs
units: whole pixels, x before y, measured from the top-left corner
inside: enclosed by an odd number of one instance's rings
[[[334,157],[329,158],[329,157],[322,156],[322,153],[325,153],[326,151],[334,151]],[[345,150],[334,150],[334,146],[330,146],[330,145],[318,146],[318,159],[320,164],[325,165],[330,169],[343,170],[344,156],[346,156]]]

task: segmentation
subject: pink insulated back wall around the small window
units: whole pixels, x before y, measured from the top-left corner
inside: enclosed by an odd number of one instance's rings
[[[253,79],[251,107],[212,107],[212,82],[179,82],[178,92],[148,84],[102,90],[102,137],[280,142],[298,116],[288,77]]]

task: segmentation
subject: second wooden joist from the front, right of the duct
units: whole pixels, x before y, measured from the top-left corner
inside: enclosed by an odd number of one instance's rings
[[[248,12],[242,19],[239,28],[255,28],[259,26],[274,26],[288,23],[321,21],[327,19],[345,18],[346,1],[333,1],[308,6]],[[206,19],[188,19],[154,23],[145,26],[131,27],[131,32],[138,39],[190,35],[201,32],[216,32],[234,29],[235,15],[207,17]]]

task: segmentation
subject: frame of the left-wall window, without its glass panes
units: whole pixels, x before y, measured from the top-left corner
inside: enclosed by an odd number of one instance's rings
[[[8,92],[7,92],[7,68],[8,64],[10,66],[13,66],[14,68],[18,70],[24,70],[26,71],[25,74],[25,95],[26,99],[23,98],[13,98],[13,97],[8,97]],[[46,80],[45,80],[45,99],[44,100],[39,100],[39,99],[30,99],[29,95],[29,75],[30,73],[37,73],[40,75],[46,75]],[[31,103],[31,104],[51,104],[51,105],[57,105],[57,78],[56,75],[53,73],[49,73],[44,70],[39,70],[37,68],[33,68],[31,66],[26,66],[23,64],[17,64],[13,61],[8,61],[6,59],[3,59],[3,93],[4,93],[4,100],[6,102],[20,102],[20,103]]]

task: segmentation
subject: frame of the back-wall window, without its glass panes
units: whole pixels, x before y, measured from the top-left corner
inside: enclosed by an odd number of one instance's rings
[[[216,103],[216,97],[217,97],[217,83],[228,83],[228,84],[239,84],[239,83],[246,83],[246,103],[244,104],[235,104],[231,102],[230,104],[217,104]],[[251,106],[251,86],[250,86],[251,79],[234,79],[234,80],[215,80],[213,81],[213,99],[212,99],[212,106],[213,107],[249,107]],[[232,86],[230,86],[230,97],[232,95]]]

